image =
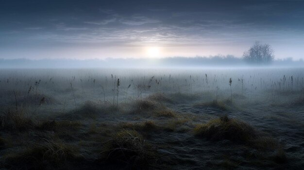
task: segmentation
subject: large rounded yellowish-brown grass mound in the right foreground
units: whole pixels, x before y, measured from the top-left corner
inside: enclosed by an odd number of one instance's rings
[[[211,140],[228,139],[237,143],[250,144],[258,148],[274,148],[276,142],[255,130],[251,125],[242,121],[222,116],[200,124],[194,128],[194,134]]]

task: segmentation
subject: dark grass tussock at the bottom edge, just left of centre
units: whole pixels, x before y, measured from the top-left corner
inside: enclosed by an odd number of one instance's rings
[[[105,144],[101,152],[104,163],[127,164],[130,169],[152,165],[157,153],[135,130],[121,130]]]

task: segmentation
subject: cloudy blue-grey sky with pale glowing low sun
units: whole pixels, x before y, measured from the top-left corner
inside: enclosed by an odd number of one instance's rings
[[[0,59],[304,59],[304,0],[0,0]]]

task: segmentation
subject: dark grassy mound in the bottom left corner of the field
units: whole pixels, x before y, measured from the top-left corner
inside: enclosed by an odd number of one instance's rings
[[[80,158],[72,147],[45,139],[43,144],[36,144],[20,153],[5,155],[4,165],[9,169],[56,169],[64,167],[67,161]]]

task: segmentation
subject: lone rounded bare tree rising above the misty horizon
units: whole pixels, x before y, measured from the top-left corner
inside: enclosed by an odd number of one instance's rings
[[[243,59],[252,64],[269,64],[273,61],[273,58],[274,54],[271,46],[269,44],[262,45],[259,42],[255,42],[255,44],[243,54]]]

